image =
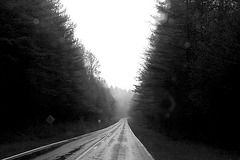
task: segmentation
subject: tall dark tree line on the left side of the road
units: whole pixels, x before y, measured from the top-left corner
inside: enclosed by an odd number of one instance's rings
[[[0,124],[109,120],[115,99],[59,0],[0,0]]]

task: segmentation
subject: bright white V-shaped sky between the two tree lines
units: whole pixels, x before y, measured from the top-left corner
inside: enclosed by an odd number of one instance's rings
[[[75,36],[100,61],[109,86],[133,89],[142,53],[148,46],[155,0],[62,0]]]

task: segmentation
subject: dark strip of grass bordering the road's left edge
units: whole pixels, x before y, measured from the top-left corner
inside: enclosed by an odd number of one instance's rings
[[[80,136],[92,131],[105,128],[109,125],[94,122],[75,122],[66,124],[57,124],[55,126],[42,125],[31,127],[29,130],[18,135],[5,135],[1,141],[14,136],[11,142],[0,144],[0,159],[6,158],[18,153],[22,153],[37,147],[50,143]],[[9,137],[11,136],[11,137]]]

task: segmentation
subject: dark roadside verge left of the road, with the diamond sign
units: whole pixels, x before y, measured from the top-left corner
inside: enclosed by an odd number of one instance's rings
[[[99,129],[112,125],[114,122],[105,124],[97,122],[75,122],[64,125],[57,125],[51,128],[50,133],[47,133],[45,137],[38,138],[36,135],[21,135],[19,140],[15,140],[11,143],[0,144],[0,159],[6,158],[15,154],[19,154],[34,148],[38,148],[47,144],[62,141],[65,139],[81,136]],[[49,128],[45,128],[46,132]],[[39,129],[37,131],[40,132]],[[40,134],[40,133],[39,133]],[[28,137],[28,138],[25,138]]]

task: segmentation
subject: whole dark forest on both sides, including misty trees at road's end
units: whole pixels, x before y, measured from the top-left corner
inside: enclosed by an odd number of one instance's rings
[[[0,142],[49,115],[107,123],[131,104],[135,120],[171,137],[239,149],[240,3],[167,0],[157,10],[133,95],[107,86],[59,0],[0,0]]]

